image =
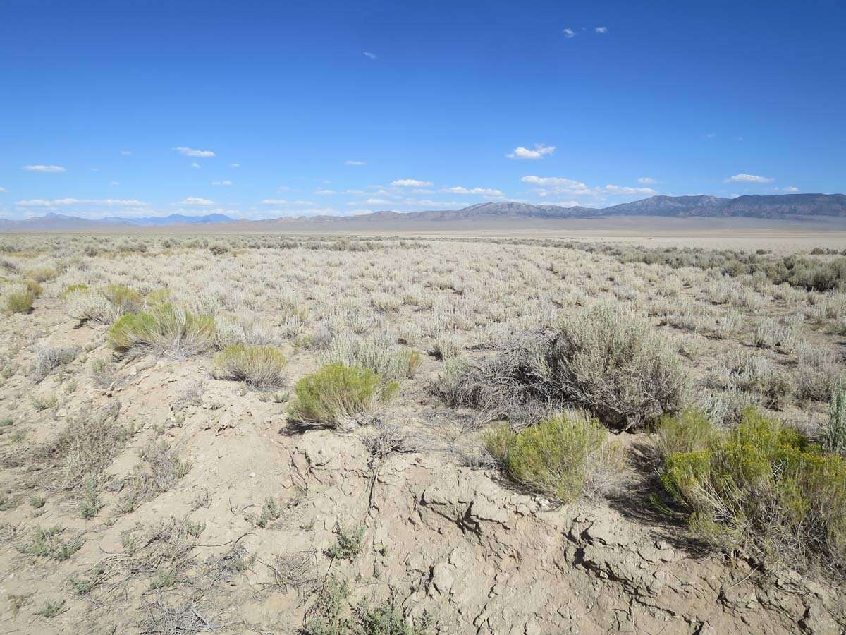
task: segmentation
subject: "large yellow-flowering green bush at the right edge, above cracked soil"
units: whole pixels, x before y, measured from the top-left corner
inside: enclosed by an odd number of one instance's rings
[[[846,575],[846,460],[754,408],[722,430],[667,417],[662,483],[691,530],[766,568]]]

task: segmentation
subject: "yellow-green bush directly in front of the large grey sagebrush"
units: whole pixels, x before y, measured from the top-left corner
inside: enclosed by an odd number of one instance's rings
[[[485,444],[509,478],[566,503],[613,488],[624,452],[608,436],[596,418],[568,411],[519,432],[497,425],[485,434]]]

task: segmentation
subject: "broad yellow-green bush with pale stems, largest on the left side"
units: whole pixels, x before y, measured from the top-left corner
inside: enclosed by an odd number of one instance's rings
[[[108,340],[119,355],[144,352],[176,358],[197,355],[215,343],[214,317],[162,304],[150,312],[124,315],[109,329]]]

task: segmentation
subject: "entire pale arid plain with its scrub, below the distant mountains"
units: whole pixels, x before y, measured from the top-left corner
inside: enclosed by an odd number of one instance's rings
[[[187,232],[0,236],[0,633],[846,629],[843,235]]]

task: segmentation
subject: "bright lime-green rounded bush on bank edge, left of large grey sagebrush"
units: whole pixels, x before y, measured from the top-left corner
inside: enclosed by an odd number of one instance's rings
[[[328,364],[300,379],[288,417],[296,422],[345,427],[393,399],[394,381],[384,381],[368,368]]]

